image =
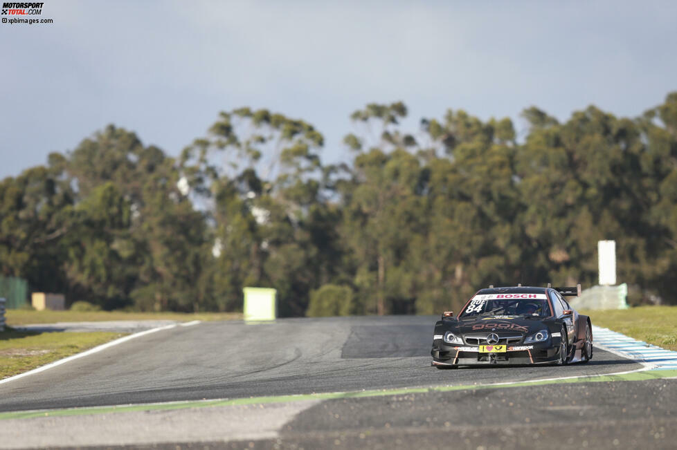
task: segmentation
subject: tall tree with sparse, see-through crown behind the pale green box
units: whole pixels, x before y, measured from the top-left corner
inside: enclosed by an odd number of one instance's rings
[[[335,215],[326,202],[331,169],[314,126],[266,109],[222,112],[181,155],[188,185],[213,219],[215,295],[237,308],[244,285],[278,289],[284,315],[303,315],[327,270]],[[336,252],[329,252],[335,257]],[[326,279],[325,281],[330,281]]]

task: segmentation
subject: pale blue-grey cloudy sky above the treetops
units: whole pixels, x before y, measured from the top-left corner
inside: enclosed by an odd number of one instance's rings
[[[677,90],[668,1],[65,1],[51,25],[0,24],[0,178],[114,123],[177,155],[217,113],[268,108],[315,124],[323,160],[367,102],[412,129],[446,109],[566,120],[635,116]]]

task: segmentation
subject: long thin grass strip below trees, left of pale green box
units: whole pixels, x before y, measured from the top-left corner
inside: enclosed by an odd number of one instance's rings
[[[192,320],[238,320],[241,312],[126,312],[126,311],[34,311],[7,310],[7,324],[19,326],[26,324],[55,324],[56,322],[98,322],[108,320],[174,320],[188,322]]]

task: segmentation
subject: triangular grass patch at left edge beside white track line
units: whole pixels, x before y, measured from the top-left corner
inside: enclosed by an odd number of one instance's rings
[[[0,379],[30,371],[108,341],[119,332],[0,332]]]

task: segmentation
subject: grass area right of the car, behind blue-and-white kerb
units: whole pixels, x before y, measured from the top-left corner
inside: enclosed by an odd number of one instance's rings
[[[597,326],[677,350],[677,306],[639,306],[628,310],[581,310]]]

